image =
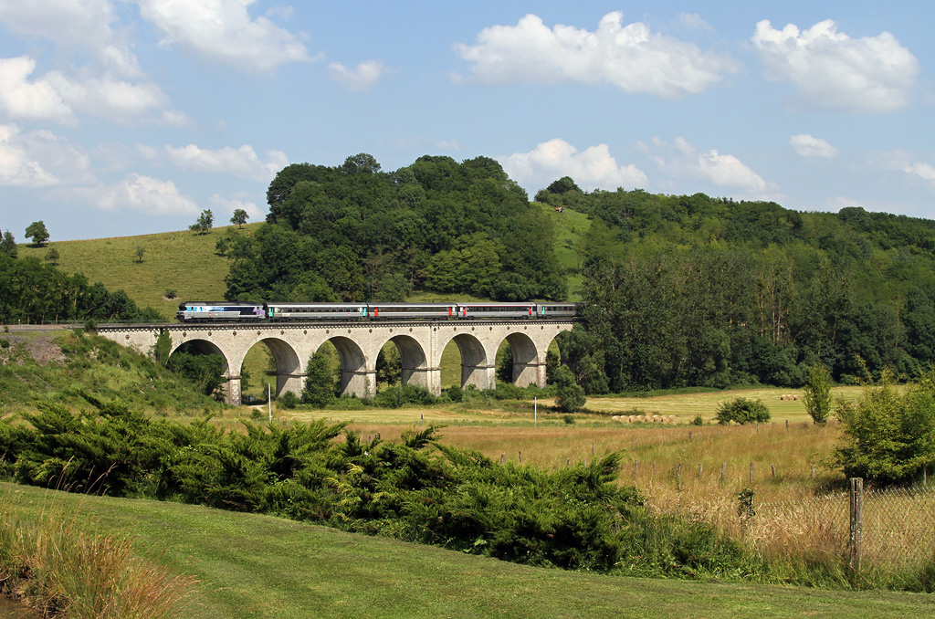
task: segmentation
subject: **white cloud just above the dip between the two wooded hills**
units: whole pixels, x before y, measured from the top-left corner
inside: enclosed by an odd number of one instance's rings
[[[645,187],[646,175],[632,164],[618,166],[607,144],[598,144],[579,152],[563,139],[542,142],[529,152],[514,152],[500,157],[500,164],[511,179],[523,184],[547,184],[570,176],[582,189]]]

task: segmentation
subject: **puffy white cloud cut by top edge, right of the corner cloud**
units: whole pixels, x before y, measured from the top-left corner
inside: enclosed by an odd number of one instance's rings
[[[140,14],[154,23],[165,45],[177,45],[247,71],[271,71],[283,63],[309,61],[298,38],[266,17],[251,18],[255,0],[139,0]]]

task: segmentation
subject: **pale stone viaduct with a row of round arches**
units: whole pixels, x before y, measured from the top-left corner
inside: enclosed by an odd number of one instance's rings
[[[240,367],[263,342],[276,361],[276,394],[300,394],[311,353],[325,341],[338,349],[341,393],[374,396],[377,354],[388,341],[396,344],[403,383],[441,393],[441,353],[453,341],[461,353],[461,384],[492,389],[496,350],[506,340],[513,353],[513,382],[545,386],[545,355],[552,340],[573,320],[369,321],[349,323],[108,324],[98,335],[151,354],[160,332],[167,331],[175,351],[194,342],[202,352],[221,354],[227,364],[228,404],[240,403]]]

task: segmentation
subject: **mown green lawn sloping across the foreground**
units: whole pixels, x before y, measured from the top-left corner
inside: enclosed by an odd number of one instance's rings
[[[15,505],[79,513],[132,533],[201,581],[189,616],[221,617],[921,617],[930,596],[597,576],[533,569],[268,516],[0,484]]]

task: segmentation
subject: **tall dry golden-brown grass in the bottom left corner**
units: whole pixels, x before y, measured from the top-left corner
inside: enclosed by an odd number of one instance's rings
[[[94,530],[50,506],[29,519],[16,490],[0,490],[0,585],[47,616],[171,619],[191,616],[195,582],[138,556],[131,540]]]

